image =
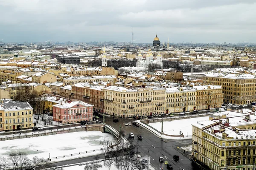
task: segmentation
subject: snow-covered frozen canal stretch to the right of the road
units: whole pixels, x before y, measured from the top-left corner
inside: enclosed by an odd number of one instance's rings
[[[191,119],[180,119],[180,120],[173,120],[173,121],[166,121],[163,122],[163,132],[168,135],[180,135],[183,133],[184,138],[183,139],[191,139],[192,138],[192,123],[196,124],[198,121],[205,121],[209,120],[209,116],[205,117],[197,117],[197,118],[191,118]],[[156,122],[156,123],[149,123],[151,127],[154,127],[155,129],[159,130],[161,132],[162,130],[162,123]],[[147,127],[147,126],[144,126]],[[148,127],[147,127],[148,128]],[[148,128],[152,130],[151,128]],[[175,139],[179,137],[169,137],[164,135],[159,135],[166,139]]]

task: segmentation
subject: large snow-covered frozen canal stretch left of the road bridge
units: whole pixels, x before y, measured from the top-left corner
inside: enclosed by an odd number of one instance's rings
[[[32,159],[34,156],[47,159],[49,156],[52,158],[100,149],[102,146],[99,142],[103,139],[112,141],[113,136],[109,133],[89,131],[1,141],[0,155],[8,157],[8,154],[12,151],[22,151],[27,153],[29,159]],[[101,151],[85,153],[79,155],[79,157],[99,153],[101,153]],[[74,156],[61,159],[72,158],[74,158]]]

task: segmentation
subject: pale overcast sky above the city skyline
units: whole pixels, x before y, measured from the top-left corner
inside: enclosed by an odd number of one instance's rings
[[[256,42],[256,0],[0,0],[0,41]]]

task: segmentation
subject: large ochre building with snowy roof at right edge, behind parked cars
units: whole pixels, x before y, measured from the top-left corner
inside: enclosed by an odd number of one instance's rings
[[[203,80],[222,86],[224,102],[249,105],[256,101],[256,77],[252,74],[208,72],[203,76]]]

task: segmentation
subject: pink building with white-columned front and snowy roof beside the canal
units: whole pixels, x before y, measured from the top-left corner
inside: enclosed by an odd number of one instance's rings
[[[53,120],[63,124],[93,120],[93,105],[81,101],[61,102],[52,105]]]

